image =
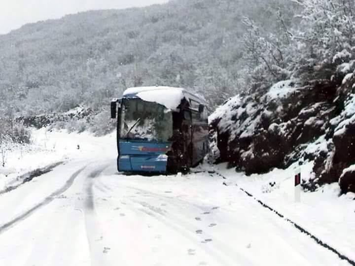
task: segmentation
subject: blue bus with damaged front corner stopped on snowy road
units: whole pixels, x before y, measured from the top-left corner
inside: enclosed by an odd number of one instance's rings
[[[182,88],[129,88],[111,101],[119,172],[184,172],[209,152],[205,100]]]

